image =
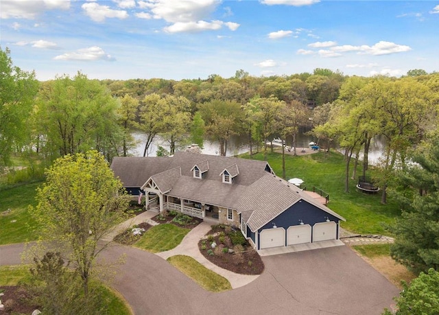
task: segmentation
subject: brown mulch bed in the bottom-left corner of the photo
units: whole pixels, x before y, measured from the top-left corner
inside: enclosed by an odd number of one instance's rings
[[[38,305],[34,305],[29,300],[29,294],[19,285],[0,286],[1,303],[4,305],[0,314],[32,314],[38,309]]]

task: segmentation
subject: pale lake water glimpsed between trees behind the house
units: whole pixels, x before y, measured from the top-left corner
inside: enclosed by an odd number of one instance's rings
[[[132,132],[132,136],[137,141],[137,146],[134,148],[134,150],[130,151],[130,154],[134,156],[143,156],[143,150],[145,148],[145,133],[144,132]],[[309,148],[309,143],[311,141],[317,141],[316,139],[313,139],[313,137],[309,135],[305,135],[302,132],[298,133],[297,135],[297,148]],[[292,137],[287,137],[286,141],[287,145],[292,144]],[[152,145],[150,145],[150,150],[148,152],[148,156],[156,156],[156,150],[158,146],[162,146],[163,148],[169,150],[169,143],[165,141],[162,137],[156,136],[154,138],[154,141],[152,141]],[[369,150],[369,163],[374,164],[377,163],[378,159],[383,154],[383,150],[385,148],[385,141],[381,139],[381,137],[375,137],[372,139],[372,142],[370,143],[370,150]],[[254,150],[256,148],[254,147]],[[235,156],[238,154],[243,154],[250,151],[250,147],[247,144],[247,137],[245,136],[234,136],[231,137],[230,140],[227,143],[227,156]],[[204,140],[204,148],[202,149],[202,153],[204,154],[211,154],[211,155],[219,155],[219,143],[217,141],[209,141]],[[362,154],[360,154],[360,157],[362,157]]]

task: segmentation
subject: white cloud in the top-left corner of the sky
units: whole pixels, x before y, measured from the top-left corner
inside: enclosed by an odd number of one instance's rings
[[[2,0],[0,19],[35,19],[45,10],[67,10],[70,0]]]

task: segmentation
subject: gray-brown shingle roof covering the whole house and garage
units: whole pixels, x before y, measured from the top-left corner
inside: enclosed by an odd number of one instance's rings
[[[195,165],[209,170],[202,179],[193,177]],[[265,161],[177,152],[172,157],[116,157],[111,168],[124,187],[141,187],[152,178],[169,196],[237,209],[252,231],[300,199],[344,220],[298,187],[267,172],[271,167]],[[224,170],[235,177],[232,184],[222,183],[219,175]]]

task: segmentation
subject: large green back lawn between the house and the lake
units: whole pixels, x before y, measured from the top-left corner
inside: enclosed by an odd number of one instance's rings
[[[241,157],[248,158],[248,154]],[[255,154],[253,159],[263,160],[263,154]],[[282,154],[268,154],[268,163],[278,176],[282,176]],[[351,165],[351,176],[353,163]],[[370,174],[368,171],[367,174]],[[313,186],[329,194],[327,207],[342,215],[346,222],[342,227],[348,231],[360,234],[389,235],[385,230],[386,224],[391,224],[401,212],[392,199],[388,196],[388,203],[381,204],[381,194],[363,194],[355,188],[357,179],[350,180],[349,192],[344,192],[345,162],[344,156],[337,152],[292,156],[285,154],[286,179],[302,178],[305,180],[307,190]],[[357,169],[357,176],[361,175],[361,167]]]

